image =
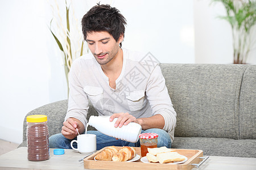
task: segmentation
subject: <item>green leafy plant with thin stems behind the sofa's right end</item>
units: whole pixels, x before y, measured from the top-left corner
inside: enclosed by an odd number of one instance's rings
[[[248,54],[255,44],[256,1],[250,0],[212,0],[221,2],[227,16],[220,16],[232,27],[234,63],[246,63]]]

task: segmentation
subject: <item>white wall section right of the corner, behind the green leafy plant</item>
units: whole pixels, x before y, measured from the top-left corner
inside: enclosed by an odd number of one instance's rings
[[[193,0],[196,63],[233,63],[232,29],[228,22],[217,18],[225,16],[221,3]],[[254,27],[256,37],[256,27]],[[247,63],[256,64],[256,44]]]

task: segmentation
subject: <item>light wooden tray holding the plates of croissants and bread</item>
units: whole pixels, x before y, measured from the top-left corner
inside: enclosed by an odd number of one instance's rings
[[[106,147],[105,147],[106,148]],[[84,168],[87,169],[192,169],[195,166],[192,164],[197,164],[201,161],[200,157],[203,156],[202,150],[183,150],[175,149],[180,155],[184,155],[188,158],[187,162],[183,164],[160,164],[160,163],[143,163],[141,159],[135,162],[113,162],[113,161],[96,161],[94,156],[99,152],[104,150],[102,148],[100,151],[88,156],[84,159]],[[118,150],[122,147],[117,147]],[[141,147],[134,147],[136,154],[141,156]]]

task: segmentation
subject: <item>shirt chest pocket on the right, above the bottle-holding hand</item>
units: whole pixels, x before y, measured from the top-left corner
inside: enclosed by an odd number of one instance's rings
[[[129,92],[126,99],[131,112],[139,111],[146,105],[144,91]]]

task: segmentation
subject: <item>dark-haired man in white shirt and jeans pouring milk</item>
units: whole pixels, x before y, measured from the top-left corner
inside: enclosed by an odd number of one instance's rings
[[[157,133],[158,147],[171,147],[176,112],[158,64],[146,66],[145,55],[123,49],[126,19],[109,5],[92,7],[82,18],[84,40],[92,54],[76,59],[69,73],[68,112],[61,134],[49,138],[50,147],[71,148],[77,130],[85,132],[88,102],[99,116],[118,118],[115,128],[135,122],[142,133]],[[89,100],[88,100],[89,99]],[[140,146],[96,134],[97,150],[105,146]]]

